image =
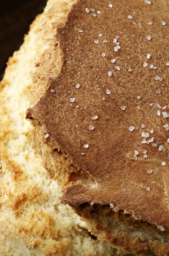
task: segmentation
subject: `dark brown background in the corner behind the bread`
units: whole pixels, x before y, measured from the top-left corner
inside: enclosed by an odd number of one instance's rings
[[[19,49],[23,36],[46,0],[0,0],[0,77],[8,57]]]

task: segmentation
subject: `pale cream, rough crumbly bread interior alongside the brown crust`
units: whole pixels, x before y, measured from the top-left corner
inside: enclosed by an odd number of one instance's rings
[[[55,26],[62,18],[66,1],[57,1],[57,10],[55,2],[31,25],[0,84],[0,256],[115,256],[113,246],[101,244],[71,207],[60,203],[61,186],[31,147],[32,128],[25,120],[28,91],[43,24]]]

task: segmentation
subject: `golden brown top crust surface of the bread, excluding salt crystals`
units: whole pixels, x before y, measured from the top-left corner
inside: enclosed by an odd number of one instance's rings
[[[165,64],[169,58],[166,52],[169,29],[161,22],[167,20],[169,3],[157,0],[149,5],[144,0],[116,0],[112,1],[113,8],[108,5],[108,0],[73,2],[67,21],[56,25],[51,49],[44,53],[42,65],[37,65],[34,74],[36,95],[27,118],[33,120],[36,133],[40,131],[41,136],[37,135],[35,141],[39,141],[41,149],[37,151],[42,152],[46,162],[48,155],[51,161],[57,162],[58,155],[50,153],[55,148],[66,152],[72,163],[67,175],[79,172],[93,183],[69,182],[62,201],[73,207],[86,202],[113,203],[115,211],[125,210],[134,218],[169,231],[168,131],[163,127],[167,119],[156,106],[168,104]],[[101,13],[94,17],[92,11],[89,14],[85,11],[87,7]],[[133,18],[127,18],[128,15]],[[153,25],[149,25],[149,21]],[[99,32],[102,37],[98,36]],[[121,49],[115,52],[113,38],[117,35]],[[147,35],[151,35],[150,41]],[[103,43],[103,40],[108,41]],[[102,52],[106,57],[101,57]],[[146,59],[147,53],[151,54],[150,60]],[[56,57],[59,63],[55,66]],[[114,64],[113,58],[116,58]],[[149,63],[147,67],[143,67],[144,61]],[[150,64],[157,65],[158,69],[150,69]],[[121,71],[115,69],[116,65]],[[109,77],[108,71],[112,71],[113,76]],[[155,80],[156,75],[163,80]],[[80,88],[76,89],[78,83]],[[156,92],[159,88],[161,94]],[[111,94],[106,94],[107,89]],[[141,99],[137,99],[138,95]],[[75,101],[70,102],[70,98]],[[157,115],[159,110],[161,116]],[[99,118],[92,120],[94,115]],[[93,125],[94,130],[89,130],[89,125]],[[135,129],[129,131],[130,126]],[[142,132],[149,133],[149,138],[154,140],[142,144]],[[45,134],[49,134],[47,139]],[[84,148],[85,144],[89,144],[89,148]],[[158,150],[160,145],[163,145],[162,151]],[[148,151],[148,157],[144,157],[142,149]],[[139,152],[137,157],[135,150]],[[162,162],[166,165],[162,166]],[[64,163],[63,160],[65,171]],[[57,171],[54,164],[48,168],[51,172]],[[148,169],[153,172],[148,174]],[[63,177],[68,179],[66,174]],[[115,243],[114,239],[109,240]],[[121,246],[125,248],[124,244]],[[132,251],[135,252],[133,248]],[[166,249],[162,252],[165,254]]]

